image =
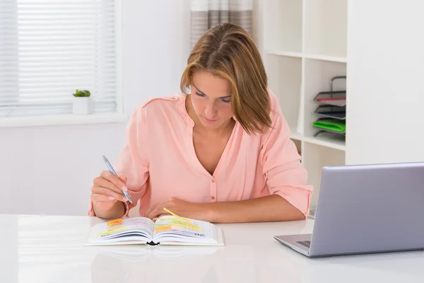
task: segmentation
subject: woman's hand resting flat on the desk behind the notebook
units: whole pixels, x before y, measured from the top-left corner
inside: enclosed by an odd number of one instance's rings
[[[169,214],[165,212],[163,208],[181,217],[208,221],[208,211],[205,204],[186,202],[175,197],[170,197],[168,200],[165,200],[165,202],[154,204],[146,211],[146,216],[150,219],[154,219],[158,216]]]

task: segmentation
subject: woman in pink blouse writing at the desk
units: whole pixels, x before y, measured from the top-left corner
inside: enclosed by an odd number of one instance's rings
[[[312,186],[245,30],[229,23],[208,30],[181,90],[136,108],[115,165],[119,178],[103,171],[94,179],[88,214],[128,216],[140,201],[140,216],[151,219],[164,207],[215,223],[305,219]]]

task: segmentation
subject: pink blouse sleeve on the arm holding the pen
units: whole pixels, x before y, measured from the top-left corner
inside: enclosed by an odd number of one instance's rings
[[[136,207],[137,202],[146,194],[148,179],[148,143],[146,139],[146,111],[140,106],[129,117],[126,125],[124,146],[121,149],[114,169],[118,175],[126,177],[126,187],[132,200],[124,202],[125,214]],[[90,200],[88,216],[95,216],[93,202]]]

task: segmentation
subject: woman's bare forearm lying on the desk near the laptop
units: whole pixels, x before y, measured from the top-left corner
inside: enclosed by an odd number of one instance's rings
[[[214,223],[241,223],[261,221],[291,221],[305,219],[299,209],[279,195],[259,197],[237,202],[205,204],[208,221]]]

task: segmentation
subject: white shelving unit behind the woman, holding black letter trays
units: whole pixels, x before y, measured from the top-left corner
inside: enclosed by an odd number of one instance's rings
[[[280,99],[291,139],[298,146],[309,183],[314,185],[312,209],[317,203],[322,167],[346,163],[345,137],[326,133],[314,137],[318,129],[312,122],[319,118],[314,113],[318,106],[314,97],[330,91],[332,77],[346,76],[347,1],[260,2],[264,5],[261,50],[269,86]],[[334,81],[334,91],[338,90],[346,90],[346,80]]]

